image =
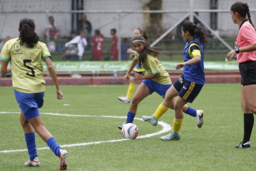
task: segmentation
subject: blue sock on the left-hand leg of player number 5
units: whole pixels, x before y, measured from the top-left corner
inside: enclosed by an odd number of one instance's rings
[[[35,133],[26,133],[25,141],[27,144],[27,150],[29,152],[29,159],[34,159],[38,157],[38,153],[36,152],[36,135]]]

